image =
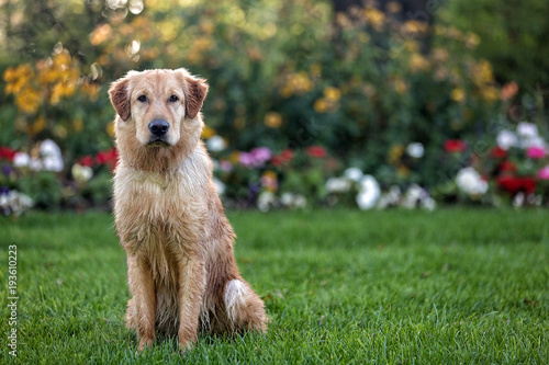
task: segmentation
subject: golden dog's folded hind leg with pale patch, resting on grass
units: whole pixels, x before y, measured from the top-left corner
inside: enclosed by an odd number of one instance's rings
[[[245,281],[238,278],[228,281],[225,284],[223,301],[231,332],[267,330],[264,301]]]

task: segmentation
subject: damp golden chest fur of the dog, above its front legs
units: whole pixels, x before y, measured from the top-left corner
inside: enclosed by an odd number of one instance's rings
[[[127,249],[193,250],[199,237],[208,236],[209,173],[201,169],[209,164],[200,161],[208,158],[202,155],[191,155],[170,173],[135,170],[121,162],[114,178],[115,215],[119,235],[135,244]]]

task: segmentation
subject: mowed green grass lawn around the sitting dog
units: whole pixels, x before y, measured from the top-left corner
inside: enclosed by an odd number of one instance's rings
[[[547,364],[549,212],[232,213],[265,335],[201,335],[190,363]],[[136,353],[123,323],[124,252],[108,214],[0,219],[18,246],[18,363],[180,363],[173,340]],[[4,343],[2,342],[2,343]],[[13,361],[2,345],[0,363]]]

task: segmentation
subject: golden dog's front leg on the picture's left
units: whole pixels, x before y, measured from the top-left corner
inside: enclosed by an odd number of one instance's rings
[[[128,254],[127,278],[135,309],[133,321],[139,340],[137,350],[143,351],[155,341],[156,294],[149,264],[138,255]]]

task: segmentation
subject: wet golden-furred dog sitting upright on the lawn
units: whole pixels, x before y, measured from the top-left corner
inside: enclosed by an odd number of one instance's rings
[[[177,335],[184,351],[202,330],[267,330],[265,305],[238,272],[200,139],[208,90],[183,68],[130,71],[109,89],[120,153],[114,217],[132,294],[126,324],[139,351],[158,333]]]

